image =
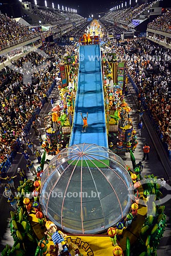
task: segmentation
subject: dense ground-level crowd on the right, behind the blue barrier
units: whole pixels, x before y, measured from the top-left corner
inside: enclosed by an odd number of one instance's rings
[[[171,96],[168,91],[171,86],[171,51],[155,45],[146,38],[134,39],[132,43],[138,49],[138,53],[128,62],[127,68],[146,102],[147,110],[157,124],[161,138],[171,150]],[[140,58],[142,55],[144,58]],[[152,72],[148,73],[149,69]]]

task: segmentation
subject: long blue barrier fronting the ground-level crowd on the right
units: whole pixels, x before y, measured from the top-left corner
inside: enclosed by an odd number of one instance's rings
[[[129,77],[129,80],[130,80],[130,82],[131,82],[131,84],[132,84],[132,86],[133,86],[133,88],[134,88],[136,94],[138,95],[138,94],[139,94],[139,89],[138,89],[138,87],[136,86],[134,80],[132,79],[132,77],[130,76],[129,73],[127,74],[127,76]],[[149,110],[147,109],[147,104],[146,104],[145,100],[143,99],[143,97],[141,97],[141,102],[142,102],[142,105],[143,105],[144,110],[147,110],[146,113],[147,113],[149,119],[151,120],[152,125],[153,125],[153,127],[154,127],[156,133],[158,134],[158,136],[159,136],[159,138],[160,138],[160,140],[161,140],[161,142],[162,142],[162,144],[163,144],[164,149],[166,150],[166,153],[167,153],[167,156],[168,156],[169,160],[171,161],[171,151],[168,150],[168,144],[162,140],[162,139],[163,139],[163,135],[162,135],[162,133],[161,133],[160,130],[159,130],[159,126],[158,126],[157,123],[154,121],[154,118],[153,118],[153,115],[152,115],[151,111],[149,111]]]

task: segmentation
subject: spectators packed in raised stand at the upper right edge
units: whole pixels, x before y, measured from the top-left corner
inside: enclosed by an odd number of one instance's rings
[[[153,22],[148,23],[147,27],[170,33],[171,32],[170,21],[171,21],[171,10],[167,10],[165,13],[155,18]]]

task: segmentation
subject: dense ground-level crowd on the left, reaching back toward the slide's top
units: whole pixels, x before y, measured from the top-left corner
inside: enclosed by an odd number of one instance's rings
[[[19,137],[24,139],[25,125],[32,117],[36,108],[41,108],[41,100],[46,98],[46,92],[52,83],[59,77],[59,61],[66,55],[75,54],[75,46],[57,46],[47,44],[44,51],[54,57],[55,61],[45,60],[36,52],[20,57],[13,61],[18,72],[6,69],[2,74],[4,78],[1,87],[1,111],[0,111],[0,166],[3,167],[5,161],[10,156]],[[20,69],[27,62],[32,62],[33,66],[39,66],[42,61],[47,61],[48,65],[44,70],[32,74],[32,83],[23,83],[23,75]],[[6,80],[5,80],[6,79]]]

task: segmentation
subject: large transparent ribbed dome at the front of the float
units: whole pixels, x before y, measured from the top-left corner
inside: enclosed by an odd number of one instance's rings
[[[69,233],[95,234],[125,217],[132,180],[109,148],[75,144],[56,155],[41,177],[44,214]]]

